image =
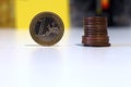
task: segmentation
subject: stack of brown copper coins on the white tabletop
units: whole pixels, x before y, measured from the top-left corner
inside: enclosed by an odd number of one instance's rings
[[[84,17],[84,36],[82,36],[82,44],[92,47],[110,46],[107,33],[107,17]]]

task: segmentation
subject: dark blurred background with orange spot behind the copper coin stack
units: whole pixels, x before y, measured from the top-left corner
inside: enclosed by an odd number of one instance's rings
[[[85,16],[107,16],[108,26],[129,26],[131,0],[70,0],[71,25],[82,27]]]

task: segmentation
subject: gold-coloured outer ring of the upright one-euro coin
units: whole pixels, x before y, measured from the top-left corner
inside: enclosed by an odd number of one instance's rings
[[[35,33],[36,23],[38,20],[44,18],[44,17],[53,18],[58,23],[58,26],[60,29],[60,33],[50,41],[41,40],[35,36],[36,35],[36,33]],[[64,25],[63,25],[63,22],[60,18],[60,16],[58,16],[56,13],[53,13],[53,12],[40,12],[37,15],[35,15],[34,18],[32,20],[31,25],[29,25],[29,33],[31,33],[32,38],[37,44],[39,44],[41,46],[52,46],[52,45],[56,45],[62,38],[63,33],[64,33]]]

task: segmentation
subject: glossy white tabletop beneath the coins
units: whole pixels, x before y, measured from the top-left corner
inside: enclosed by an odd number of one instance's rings
[[[108,28],[111,47],[83,47],[82,35],[43,47],[28,30],[0,29],[0,87],[131,87],[131,28]]]

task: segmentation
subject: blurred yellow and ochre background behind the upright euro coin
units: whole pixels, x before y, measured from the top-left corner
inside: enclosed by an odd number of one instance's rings
[[[1,0],[0,27],[27,29],[32,18],[44,11],[57,13],[70,26],[69,0]]]

